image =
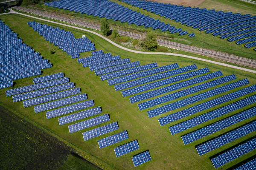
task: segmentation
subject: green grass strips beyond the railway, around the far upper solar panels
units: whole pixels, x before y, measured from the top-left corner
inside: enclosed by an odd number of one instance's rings
[[[155,20],[160,20],[160,22],[164,22],[165,24],[169,23],[171,26],[175,26],[176,28],[182,28],[183,31],[186,30],[188,31],[189,34],[195,33],[195,37],[189,38],[188,35],[180,36],[178,33],[170,34],[169,31],[161,32],[160,29],[153,30],[152,28],[144,28],[144,26],[136,26],[135,24],[128,25],[128,23],[120,23],[120,21],[113,21],[112,19],[110,19],[108,20],[108,22],[111,24],[111,27],[116,27],[118,29],[125,30],[125,27],[128,26],[128,31],[136,32],[139,34],[145,34],[146,31],[153,31],[158,34],[159,38],[166,37],[166,40],[170,40],[172,42],[178,42],[186,45],[192,45],[195,47],[201,47],[201,48],[206,48],[210,50],[220,51],[220,52],[233,54],[240,57],[250,58],[252,56],[251,59],[256,59],[255,50],[253,48],[245,48],[243,46],[244,44],[236,45],[235,42],[229,42],[227,39],[221,39],[218,36],[214,37],[212,36],[212,34],[206,34],[205,31],[200,32],[198,29],[193,29],[192,26],[187,27],[185,25],[181,25],[180,23],[175,23],[174,20],[171,21],[169,20],[169,18],[160,17],[159,15],[143,10],[142,8],[136,8],[134,6],[128,5],[127,3],[123,3],[118,0],[112,0],[112,1],[122,6],[125,6],[127,8],[131,8],[132,10],[135,10],[137,12],[140,12],[141,14],[145,14],[146,16],[153,17]],[[254,6],[250,7],[249,5],[246,6],[245,4],[239,6],[239,5],[233,4],[232,2],[226,2],[224,0],[218,0],[218,1],[220,1],[221,3],[228,3],[230,8],[232,7],[235,8],[235,6],[237,6],[236,8],[240,9],[239,12],[241,14],[250,13],[251,15],[255,15],[256,13]],[[213,3],[212,1],[210,2]],[[21,4],[21,6],[24,6],[24,5]],[[71,17],[72,16],[76,17],[76,19],[79,19],[79,20],[81,20],[81,16],[82,16],[83,20],[87,22],[99,24],[99,21],[100,21],[99,17],[93,17],[92,15],[74,13],[73,11],[48,7],[48,6],[45,6],[44,4],[38,4],[35,7],[41,10],[47,10],[47,11],[58,13],[58,14],[69,14]],[[34,8],[34,6],[31,8]],[[207,8],[207,9],[212,9],[212,8]],[[224,9],[221,9],[221,10],[224,11]],[[169,37],[172,37],[172,38],[170,39]]]

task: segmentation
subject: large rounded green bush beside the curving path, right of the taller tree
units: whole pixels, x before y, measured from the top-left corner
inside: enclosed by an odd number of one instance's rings
[[[150,51],[154,51],[157,48],[157,35],[148,32],[147,36],[145,38],[142,38],[139,42],[138,45],[140,45],[142,48],[145,48]]]

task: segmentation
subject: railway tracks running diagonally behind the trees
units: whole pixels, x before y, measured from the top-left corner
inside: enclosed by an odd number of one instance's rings
[[[100,26],[98,24],[88,23],[88,22],[84,22],[81,20],[75,20],[75,19],[68,18],[66,16],[48,13],[46,11],[27,9],[27,8],[20,7],[20,6],[15,6],[13,8],[21,10],[21,11],[30,12],[32,14],[37,14],[37,15],[40,15],[43,17],[48,17],[48,18],[52,18],[55,20],[60,20],[60,21],[68,22],[68,23],[74,23],[79,26],[84,26],[87,28],[100,30]],[[140,40],[143,37],[143,35],[141,35],[141,34],[131,33],[128,31],[123,31],[123,30],[118,30],[118,33],[122,36],[127,36],[127,37],[131,37],[131,38],[138,39],[138,40]],[[157,42],[158,42],[158,45],[166,46],[169,48],[174,48],[174,49],[181,50],[181,51],[187,51],[187,52],[191,52],[194,54],[201,54],[201,55],[205,55],[207,57],[220,59],[222,61],[232,62],[232,63],[236,63],[239,65],[247,65],[247,66],[256,68],[256,60],[247,59],[244,57],[237,57],[237,56],[233,56],[233,55],[229,55],[229,54],[224,54],[221,52],[211,51],[211,50],[207,50],[207,49],[203,49],[203,48],[197,48],[197,47],[184,45],[184,44],[180,44],[177,42],[171,42],[171,41],[167,41],[167,40],[157,39]]]

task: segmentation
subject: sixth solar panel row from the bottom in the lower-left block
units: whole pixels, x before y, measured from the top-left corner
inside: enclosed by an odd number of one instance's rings
[[[84,119],[86,117],[93,116],[93,115],[96,115],[96,114],[99,114],[99,113],[102,113],[102,111],[101,111],[100,107],[98,106],[96,108],[91,108],[91,109],[88,109],[88,110],[85,110],[85,111],[81,111],[81,112],[78,112],[78,113],[74,113],[74,114],[71,114],[71,115],[60,117],[60,118],[58,118],[58,122],[59,122],[59,125],[64,125],[66,123],[70,123],[70,122],[74,122],[76,120]]]

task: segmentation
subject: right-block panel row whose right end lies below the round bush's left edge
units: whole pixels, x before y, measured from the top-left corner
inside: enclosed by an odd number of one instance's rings
[[[111,72],[114,72],[114,71],[123,70],[123,69],[126,69],[126,68],[132,68],[132,67],[136,67],[136,66],[139,66],[139,65],[140,65],[140,62],[136,61],[136,62],[131,62],[131,63],[123,64],[123,65],[117,65],[117,66],[110,67],[110,68],[104,68],[104,69],[101,69],[101,70],[96,70],[94,72],[95,72],[96,76],[99,76],[99,75],[102,75],[102,74],[107,74],[107,73],[111,73]]]

